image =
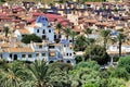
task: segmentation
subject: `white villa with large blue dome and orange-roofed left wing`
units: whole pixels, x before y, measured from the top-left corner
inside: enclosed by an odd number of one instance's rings
[[[40,38],[54,42],[54,30],[49,26],[49,22],[44,16],[38,16],[31,25],[25,26],[23,29],[16,29],[14,35],[17,40],[21,40],[25,35],[36,34]]]

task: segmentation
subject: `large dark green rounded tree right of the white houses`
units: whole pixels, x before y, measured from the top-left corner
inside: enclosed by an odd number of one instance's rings
[[[84,51],[84,58],[96,61],[99,64],[103,65],[109,61],[109,55],[104,48],[98,45],[88,47]]]

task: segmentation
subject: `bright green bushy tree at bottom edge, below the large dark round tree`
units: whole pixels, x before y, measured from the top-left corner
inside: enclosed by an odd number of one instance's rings
[[[94,86],[100,87],[102,82],[99,77],[99,72],[88,69],[80,67],[69,72],[72,79],[72,87],[83,87],[86,84],[94,84]]]

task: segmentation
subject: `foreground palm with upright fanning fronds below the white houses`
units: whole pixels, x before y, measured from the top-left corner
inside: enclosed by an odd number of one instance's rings
[[[36,82],[36,87],[47,87],[49,73],[44,61],[35,61],[28,66],[28,70],[32,74],[34,82]]]

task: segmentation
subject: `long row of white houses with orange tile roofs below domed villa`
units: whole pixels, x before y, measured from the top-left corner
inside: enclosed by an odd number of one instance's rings
[[[23,60],[35,61],[44,60],[48,64],[56,61],[63,61],[75,65],[75,52],[69,49],[68,45],[30,42],[29,45],[14,45],[0,44],[0,58],[6,61]]]

